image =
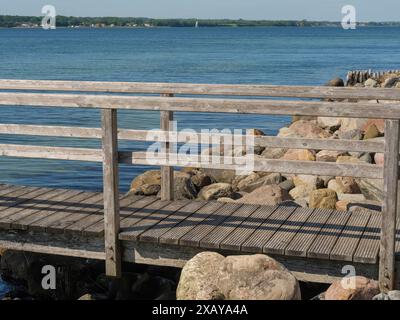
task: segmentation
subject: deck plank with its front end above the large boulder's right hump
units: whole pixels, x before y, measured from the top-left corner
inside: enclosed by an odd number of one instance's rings
[[[258,226],[252,235],[241,244],[241,250],[262,253],[268,240],[279,230],[294,213],[296,207],[278,206],[278,208]]]

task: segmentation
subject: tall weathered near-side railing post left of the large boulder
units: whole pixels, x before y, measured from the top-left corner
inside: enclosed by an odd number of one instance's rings
[[[117,110],[102,110],[106,275],[121,276]]]

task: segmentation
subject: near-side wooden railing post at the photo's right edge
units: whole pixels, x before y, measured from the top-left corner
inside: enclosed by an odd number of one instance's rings
[[[387,292],[395,286],[395,240],[399,174],[398,120],[385,122],[384,201],[382,206],[379,286]]]

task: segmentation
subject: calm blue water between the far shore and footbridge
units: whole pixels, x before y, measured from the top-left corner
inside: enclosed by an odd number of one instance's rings
[[[0,78],[319,85],[351,69],[400,69],[399,28],[0,29]],[[158,127],[157,113],[120,112],[123,128]],[[180,128],[260,128],[285,117],[176,115]],[[94,110],[2,107],[1,123],[98,127]],[[84,139],[0,135],[0,143],[99,147]],[[144,144],[122,143],[141,150]],[[143,167],[121,168],[121,189]],[[0,159],[0,182],[101,190],[93,163]],[[1,291],[1,290],[0,290]]]

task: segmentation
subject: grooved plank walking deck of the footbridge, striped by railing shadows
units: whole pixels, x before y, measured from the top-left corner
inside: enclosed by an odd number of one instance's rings
[[[123,196],[122,242],[377,264],[381,213]],[[0,185],[0,228],[102,238],[103,196]],[[397,232],[396,256],[400,254]]]

